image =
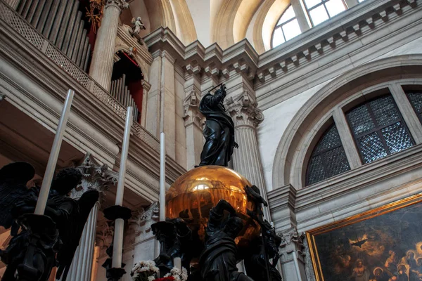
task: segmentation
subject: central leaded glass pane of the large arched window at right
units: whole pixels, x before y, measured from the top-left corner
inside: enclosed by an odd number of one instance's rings
[[[414,145],[391,95],[354,107],[346,117],[364,164]]]

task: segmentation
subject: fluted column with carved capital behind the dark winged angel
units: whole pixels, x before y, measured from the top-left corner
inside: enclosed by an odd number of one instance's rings
[[[78,166],[82,172],[82,183],[78,190],[72,191],[72,197],[77,199],[82,194],[91,189],[100,192],[100,200],[104,192],[108,190],[109,185],[117,183],[117,173],[108,170],[107,164],[98,164],[94,157],[88,153],[82,165]],[[90,281],[92,266],[94,263],[94,246],[96,241],[96,226],[98,210],[100,209],[100,202],[97,202],[89,214],[87,223],[85,224],[84,231],[79,241],[79,246],[73,256],[72,265],[66,280],[69,281]]]

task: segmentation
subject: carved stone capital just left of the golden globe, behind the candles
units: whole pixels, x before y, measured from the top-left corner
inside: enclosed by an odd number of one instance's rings
[[[152,236],[151,225],[160,221],[160,209],[158,202],[153,202],[148,208],[141,208],[133,213],[129,219],[129,228],[134,230],[137,237]]]

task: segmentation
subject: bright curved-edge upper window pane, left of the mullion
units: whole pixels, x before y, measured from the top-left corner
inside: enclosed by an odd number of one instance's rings
[[[279,22],[277,22],[277,25],[274,28],[271,48],[283,44],[293,37],[298,36],[300,33],[298,19],[296,19],[295,11],[293,11],[293,7],[290,5],[281,15]]]

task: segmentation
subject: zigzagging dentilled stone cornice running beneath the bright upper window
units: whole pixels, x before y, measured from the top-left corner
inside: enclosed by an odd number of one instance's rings
[[[336,60],[339,56],[347,58],[347,55],[343,55],[346,49],[359,48],[359,51],[364,51],[371,48],[373,44],[377,44],[377,40],[368,38],[373,32],[418,9],[420,7],[416,5],[416,0],[364,1],[261,55],[257,55],[247,39],[225,50],[218,44],[204,48],[198,41],[184,46],[168,28],[162,27],[145,37],[145,41],[151,51],[166,49],[174,53],[176,63],[198,77],[214,77],[219,81],[225,81],[232,75],[243,75],[253,81],[260,108],[264,110],[293,96],[295,93],[290,93],[293,91],[291,89],[298,89],[300,81],[302,84],[305,79],[314,81],[316,79],[314,77],[321,72],[321,67],[323,70],[324,67],[329,67],[325,63],[321,66],[320,63],[324,58],[327,60],[328,55],[332,60]],[[404,22],[402,25],[403,27],[399,28],[411,28],[411,25],[406,25]],[[412,25],[420,23],[414,22]],[[381,40],[385,41],[393,36],[395,34],[390,32],[382,35]],[[365,43],[362,43],[362,39],[366,38],[368,39]],[[311,71],[302,70],[307,65],[312,65]],[[306,73],[302,74],[304,71]],[[336,73],[333,70],[331,72],[331,76]],[[282,76],[285,78],[281,81]],[[262,91],[262,94],[259,92],[262,87],[274,81],[276,85],[271,86],[271,91]],[[281,90],[286,87],[291,89],[281,95]]]

